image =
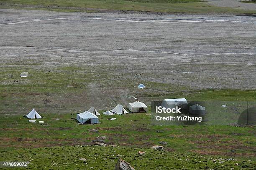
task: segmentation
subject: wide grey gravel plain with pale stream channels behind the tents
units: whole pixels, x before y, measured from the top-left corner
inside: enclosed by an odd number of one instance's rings
[[[0,67],[5,75],[5,68],[20,65],[92,68],[88,87],[101,97],[116,97],[120,88],[135,94],[137,82],[255,90],[255,30],[253,17],[0,9]],[[101,81],[102,73],[108,81]],[[1,85],[9,83],[5,75]],[[157,85],[146,90],[165,92]]]

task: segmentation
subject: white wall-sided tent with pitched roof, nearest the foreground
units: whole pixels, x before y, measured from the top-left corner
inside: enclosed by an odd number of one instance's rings
[[[99,123],[99,117],[88,111],[77,114],[77,120],[83,124]]]

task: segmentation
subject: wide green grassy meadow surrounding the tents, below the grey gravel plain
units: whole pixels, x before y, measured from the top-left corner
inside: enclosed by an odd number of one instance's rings
[[[97,98],[108,99],[106,95],[113,91],[118,93],[120,89],[131,91],[130,94],[143,102],[174,97],[207,102],[246,102],[256,100],[255,90],[195,90],[189,86],[151,81],[145,82],[147,89],[140,90],[137,88],[140,80],[108,81],[113,72],[105,72],[104,66],[97,67],[97,70],[93,66],[75,65],[36,70],[36,63],[29,60],[24,61],[25,66],[15,61],[11,63],[16,65],[15,69],[6,63],[0,72],[0,161],[31,160],[28,169],[47,170],[86,170],[90,167],[112,170],[118,158],[128,161],[138,170],[230,170],[253,169],[255,165],[254,126],[159,126],[151,124],[150,113],[102,114],[98,125],[79,125],[73,118],[86,109],[88,101],[97,103]],[[28,71],[29,77],[19,77],[23,71]],[[92,79],[95,72],[98,76]],[[101,89],[99,92],[92,88],[95,82],[97,89]],[[92,98],[88,98],[88,94]],[[120,98],[116,101],[121,102]],[[93,106],[98,109],[102,104],[105,103]],[[40,124],[38,120],[29,123],[23,117],[31,107],[43,116],[44,123]],[[117,119],[108,120],[110,117]],[[94,146],[100,136],[107,137],[104,143],[119,147]],[[163,145],[165,151],[149,149],[153,145]],[[145,151],[146,155],[139,157],[139,150]],[[87,164],[79,160],[80,157],[86,158]],[[234,160],[222,160],[229,158]]]

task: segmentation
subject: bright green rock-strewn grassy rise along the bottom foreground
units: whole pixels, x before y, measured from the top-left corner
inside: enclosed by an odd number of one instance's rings
[[[146,154],[140,156],[138,151]],[[153,149],[130,147],[68,146],[37,149],[1,151],[0,161],[29,161],[28,169],[47,170],[113,170],[121,158],[136,170],[173,169],[241,169],[252,170],[252,161],[213,156],[200,156],[193,153],[156,151]],[[81,159],[80,159],[81,158]],[[84,159],[85,160],[84,160]],[[83,160],[82,160],[83,159]],[[12,168],[5,168],[6,170]],[[17,170],[23,168],[15,168]]]

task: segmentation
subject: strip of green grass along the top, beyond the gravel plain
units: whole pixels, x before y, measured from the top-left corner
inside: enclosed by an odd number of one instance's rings
[[[215,7],[201,0],[1,0],[0,7],[59,12],[99,12],[105,9],[166,13],[256,13],[256,10]]]

